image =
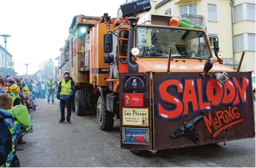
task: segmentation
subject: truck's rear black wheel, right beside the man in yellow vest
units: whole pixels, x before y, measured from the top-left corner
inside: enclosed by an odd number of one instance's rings
[[[75,92],[75,113],[78,116],[86,115],[86,96],[83,90],[77,90]]]

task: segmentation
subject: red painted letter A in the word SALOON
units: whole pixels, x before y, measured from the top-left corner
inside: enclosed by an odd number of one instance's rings
[[[189,102],[192,103],[193,111],[198,111],[194,79],[187,79],[185,81],[183,92],[184,115],[188,114]]]

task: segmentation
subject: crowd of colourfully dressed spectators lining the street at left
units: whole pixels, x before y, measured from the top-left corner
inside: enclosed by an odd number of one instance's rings
[[[16,151],[24,149],[24,135],[33,132],[30,114],[36,99],[47,94],[47,103],[52,97],[54,104],[55,89],[51,76],[47,82],[0,76],[0,167],[19,167]]]

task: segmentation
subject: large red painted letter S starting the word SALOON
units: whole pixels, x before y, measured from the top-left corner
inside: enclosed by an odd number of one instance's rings
[[[161,99],[163,101],[166,101],[167,103],[176,105],[175,109],[167,110],[167,109],[163,108],[163,106],[160,103],[158,104],[159,115],[164,118],[167,118],[167,119],[176,118],[177,116],[180,116],[183,112],[183,104],[182,104],[181,100],[175,96],[172,96],[167,91],[167,89],[172,86],[176,86],[177,92],[182,93],[183,85],[180,81],[178,81],[176,79],[168,79],[167,81],[162,82],[159,85],[159,93],[160,93]]]

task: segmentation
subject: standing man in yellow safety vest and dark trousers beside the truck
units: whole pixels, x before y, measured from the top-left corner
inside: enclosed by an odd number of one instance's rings
[[[67,123],[70,122],[71,116],[71,105],[72,105],[72,96],[75,94],[75,83],[72,77],[69,76],[69,72],[64,72],[64,79],[60,81],[58,90],[57,90],[57,99],[60,100],[60,112],[61,119],[59,123],[65,121],[65,106],[67,105]]]

